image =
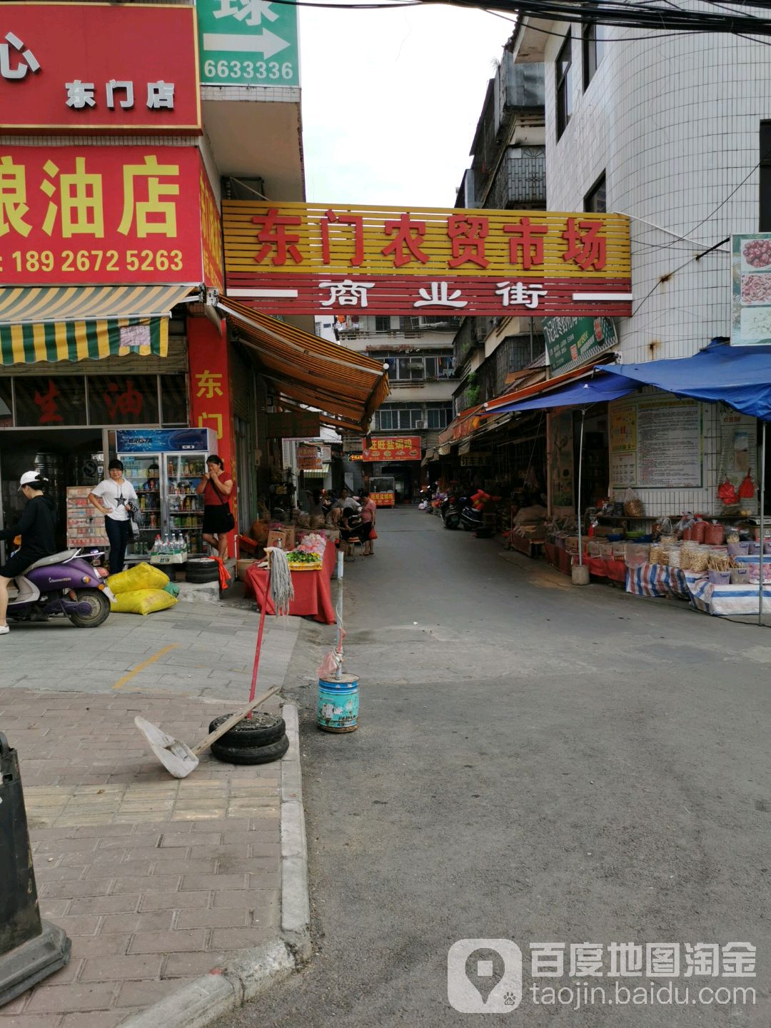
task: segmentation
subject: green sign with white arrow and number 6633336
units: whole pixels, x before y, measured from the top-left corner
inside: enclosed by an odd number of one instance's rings
[[[197,0],[203,85],[299,85],[297,8],[271,0]]]

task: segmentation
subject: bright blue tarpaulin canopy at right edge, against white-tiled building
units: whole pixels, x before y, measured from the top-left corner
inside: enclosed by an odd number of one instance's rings
[[[723,339],[712,339],[693,357],[605,365],[602,370],[665,393],[711,403],[722,400],[743,414],[771,420],[771,346],[728,346]]]

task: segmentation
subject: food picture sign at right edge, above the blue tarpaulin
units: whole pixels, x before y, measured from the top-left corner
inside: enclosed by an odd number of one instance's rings
[[[771,343],[771,232],[731,236],[731,345]]]

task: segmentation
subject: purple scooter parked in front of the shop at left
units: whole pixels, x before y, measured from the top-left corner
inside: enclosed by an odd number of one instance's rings
[[[94,565],[101,556],[96,550],[87,556],[66,550],[36,561],[14,580],[19,591],[8,597],[8,619],[43,621],[62,614],[78,628],[97,628],[115,602]]]

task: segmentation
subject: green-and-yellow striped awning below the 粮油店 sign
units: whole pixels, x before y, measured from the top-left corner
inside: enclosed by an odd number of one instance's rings
[[[0,366],[166,357],[172,307],[191,285],[0,289]]]

